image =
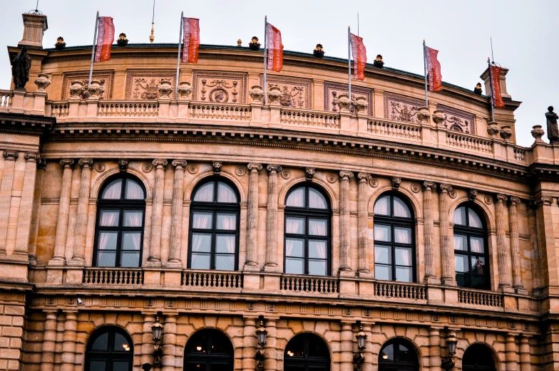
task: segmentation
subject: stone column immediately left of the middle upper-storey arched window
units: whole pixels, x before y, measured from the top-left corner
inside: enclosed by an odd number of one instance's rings
[[[282,171],[279,165],[270,164],[268,172],[268,213],[266,223],[266,263],[265,271],[277,270],[277,173]]]

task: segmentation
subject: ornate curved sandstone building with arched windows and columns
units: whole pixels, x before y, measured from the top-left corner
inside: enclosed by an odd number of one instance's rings
[[[176,80],[176,45],[114,46],[88,85],[91,46],[24,23],[0,370],[559,369],[559,146],[516,145],[506,69],[496,122],[391,68],[348,97],[347,61],[287,51],[264,96],[244,47]]]

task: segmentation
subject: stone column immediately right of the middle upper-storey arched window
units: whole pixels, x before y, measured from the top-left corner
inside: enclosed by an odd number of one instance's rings
[[[339,172],[339,271],[351,272],[349,266],[349,179],[353,172]]]

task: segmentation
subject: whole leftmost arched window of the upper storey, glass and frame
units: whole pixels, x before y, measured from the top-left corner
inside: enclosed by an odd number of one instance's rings
[[[93,266],[139,267],[145,188],[130,174],[111,177],[98,200]]]

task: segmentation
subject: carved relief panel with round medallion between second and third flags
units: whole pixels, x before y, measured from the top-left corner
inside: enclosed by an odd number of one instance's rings
[[[193,100],[208,103],[246,103],[246,91],[246,73],[193,72]]]

